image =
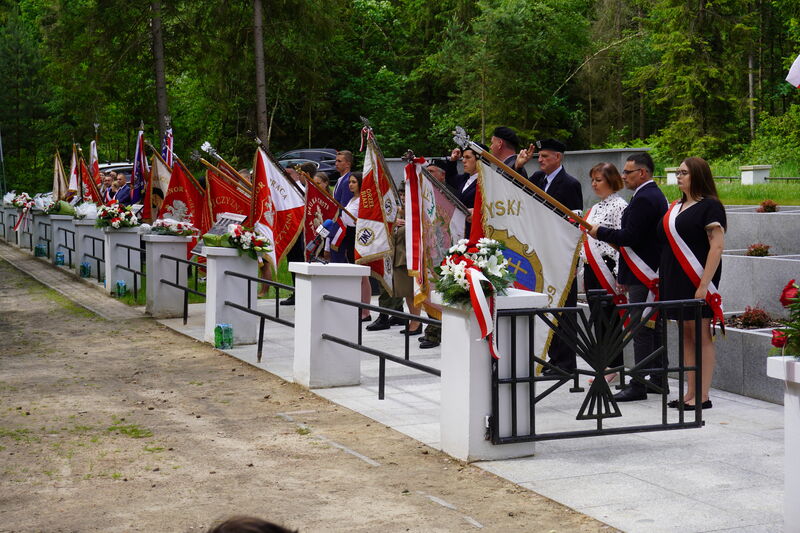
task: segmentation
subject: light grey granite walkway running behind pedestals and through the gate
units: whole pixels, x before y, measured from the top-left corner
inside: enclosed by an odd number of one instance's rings
[[[0,256],[6,258],[7,249],[0,248]],[[269,310],[273,305],[262,301],[260,307]],[[181,319],[160,322],[202,339],[203,313],[204,304],[192,304],[185,326]],[[282,308],[281,316],[292,320],[293,308]],[[365,333],[364,342],[401,353],[399,329]],[[260,363],[254,346],[227,353],[292,381],[293,345],[293,329],[267,322]],[[438,350],[419,350],[416,345],[413,340],[411,358],[437,366]],[[361,368],[360,386],[314,392],[440,448],[439,379],[387,363],[386,399],[381,401],[377,359],[363,355]],[[676,386],[673,381],[673,393]],[[711,399],[714,408],[704,413],[706,425],[701,429],[545,441],[535,450],[531,444],[530,457],[476,464],[624,531],[781,531],[783,407],[717,390],[711,391]],[[582,400],[582,395],[565,389],[556,391],[541,411],[537,408],[540,430],[576,429]],[[620,408],[626,425],[652,423],[660,413],[656,399]]]

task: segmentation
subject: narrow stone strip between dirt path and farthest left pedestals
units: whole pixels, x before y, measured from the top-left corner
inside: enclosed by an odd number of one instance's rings
[[[60,292],[81,307],[106,320],[142,318],[144,313],[106,296],[89,280],[82,280],[73,271],[55,267],[49,261],[34,257],[28,250],[0,241],[0,259],[28,274],[36,281]]]

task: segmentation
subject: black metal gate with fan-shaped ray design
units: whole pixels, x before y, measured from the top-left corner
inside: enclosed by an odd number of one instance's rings
[[[592,291],[594,292],[594,291]],[[602,291],[605,292],[605,291]],[[702,357],[700,346],[701,328],[701,309],[702,300],[675,300],[655,303],[629,303],[613,307],[613,313],[603,313],[603,309],[613,306],[610,298],[589,298],[590,316],[587,317],[585,309],[579,307],[560,307],[560,308],[528,308],[528,309],[505,309],[498,311],[499,317],[510,317],[511,324],[509,329],[510,349],[508,354],[503,354],[509,358],[508,375],[500,375],[497,360],[492,360],[492,415],[489,418],[487,438],[493,444],[510,444],[518,442],[543,441],[554,439],[565,439],[575,437],[590,437],[599,435],[640,433],[648,431],[662,431],[674,429],[697,428],[703,426],[701,402],[692,408],[695,413],[694,420],[684,419],[683,409],[679,409],[678,421],[671,422],[667,414],[667,398],[669,387],[667,376],[670,373],[677,373],[679,397],[678,404],[683,405],[684,393],[683,385],[687,372],[695,372],[697,376],[702,375]],[[668,310],[689,310],[695,322],[695,353],[696,363],[687,366],[684,360],[683,350],[683,323],[679,321],[679,353],[678,365],[671,367],[661,361],[667,360],[667,327],[666,312]],[[683,314],[681,315],[683,316]],[[576,369],[573,371],[563,370],[549,361],[537,357],[533,350],[528,353],[520,354],[516,344],[517,339],[517,320],[516,317],[527,317],[528,346],[534,346],[534,320],[539,319],[548,328],[553,330],[553,334],[558,336],[571,350],[574,350],[578,357],[586,361],[591,370]],[[624,364],[611,367],[611,362],[622,352],[622,349],[633,341],[634,336],[647,323],[656,321],[660,329],[660,346],[648,354],[645,358],[638,361],[633,367],[626,369]],[[686,319],[688,320],[688,319]],[[558,325],[557,325],[558,323]],[[500,332],[498,331],[498,337]],[[527,359],[528,374],[518,375],[519,357]],[[549,373],[536,375],[535,369],[541,365]],[[643,390],[657,393],[661,396],[661,419],[656,424],[637,424],[622,427],[605,427],[605,419],[621,417],[622,413],[614,398],[609,383],[606,381],[606,374],[617,372],[621,382],[624,383],[628,378],[629,383],[636,383],[643,387]],[[575,417],[576,420],[594,421],[595,427],[592,429],[577,429],[572,431],[553,431],[542,433],[536,427],[536,407],[545,398],[559,389],[566,383],[571,382],[570,393],[582,393],[585,389],[579,384],[581,375],[591,376],[594,381],[589,386],[581,407]],[[657,375],[659,379],[663,377],[662,386],[645,379],[647,375]],[[695,397],[701,398],[700,379],[695,382]],[[538,392],[536,384],[543,384],[546,388]],[[524,385],[525,389],[520,389]],[[510,394],[511,428],[510,435],[500,435],[500,420],[507,420],[508,414],[500,405],[500,389],[508,387]],[[522,392],[523,397],[527,395],[525,403],[528,408],[528,419],[524,422],[529,426],[528,433],[521,433],[518,423],[522,420],[518,417],[518,393]],[[645,392],[646,394],[646,392]],[[561,407],[563,409],[563,406]]]

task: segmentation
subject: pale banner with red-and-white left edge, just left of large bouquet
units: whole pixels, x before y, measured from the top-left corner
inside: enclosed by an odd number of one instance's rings
[[[430,316],[440,318],[441,307],[430,299],[431,282],[438,279],[434,268],[464,238],[466,208],[459,209],[458,200],[437,186],[435,178],[422,169],[423,161],[406,166],[406,263],[414,278],[415,305],[421,303]]]

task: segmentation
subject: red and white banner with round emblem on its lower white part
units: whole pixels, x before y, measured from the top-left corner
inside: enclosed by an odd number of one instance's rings
[[[392,295],[394,242],[392,222],[397,217],[397,200],[391,176],[378,164],[375,140],[367,137],[361,200],[356,221],[356,263],[372,269],[372,276]]]

